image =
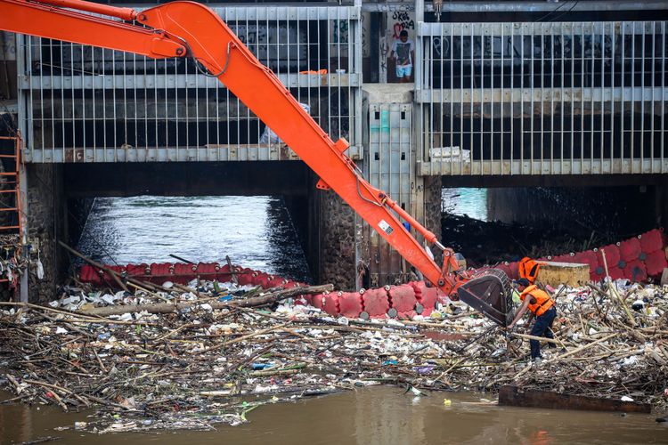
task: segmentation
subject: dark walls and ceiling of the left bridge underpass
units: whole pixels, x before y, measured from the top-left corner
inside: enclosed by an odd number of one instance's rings
[[[317,178],[301,162],[31,164],[26,168],[29,239],[40,249],[45,267],[44,279],[30,277],[31,300],[53,295],[61,284],[69,256],[55,242],[61,239],[77,244],[94,198],[141,195],[280,197],[314,277],[338,277],[339,286],[354,287],[354,278],[347,273],[354,270],[354,213],[335,194],[316,190]],[[200,222],[202,227],[207,223]],[[224,233],[220,238],[225,238]],[[224,261],[224,257],[217,261]]]

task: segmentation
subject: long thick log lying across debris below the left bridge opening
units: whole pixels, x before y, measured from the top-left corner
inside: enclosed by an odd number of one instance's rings
[[[279,290],[272,292],[267,295],[254,296],[251,298],[246,298],[243,300],[232,300],[228,302],[208,302],[213,309],[225,309],[233,307],[253,307],[261,306],[263,304],[275,303],[286,298],[305,295],[305,294],[322,294],[322,292],[330,292],[334,289],[334,286],[331,284],[325,284],[322,286],[307,286],[307,287],[291,287],[289,289]],[[108,317],[110,315],[121,315],[126,312],[142,312],[146,311],[149,313],[170,313],[183,311],[185,309],[197,308],[201,302],[187,302],[187,303],[155,303],[155,304],[125,304],[118,306],[106,306],[98,307],[93,309],[88,309],[86,311],[81,311],[82,313],[88,315],[99,315],[102,317]]]

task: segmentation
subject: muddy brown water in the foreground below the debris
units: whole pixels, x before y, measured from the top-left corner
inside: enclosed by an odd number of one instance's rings
[[[452,401],[444,405],[444,399]],[[0,407],[3,443],[59,436],[53,443],[286,443],[286,444],[558,444],[666,443],[668,427],[646,415],[510,409],[477,404],[475,393],[432,392],[413,398],[403,389],[374,387],[292,404],[267,405],[248,415],[250,423],[206,432],[94,435],[73,429],[88,413],[53,408]]]

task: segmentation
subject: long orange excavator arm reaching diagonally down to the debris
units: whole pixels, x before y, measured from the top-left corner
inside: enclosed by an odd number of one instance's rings
[[[363,178],[353,160],[345,154],[348,142],[332,141],[272,70],[260,63],[207,6],[176,1],[135,12],[131,8],[81,0],[42,0],[40,3],[0,0],[0,7],[0,29],[6,31],[101,46],[154,59],[195,59],[206,69],[204,74],[217,77],[320,176],[319,188],[334,190],[446,295],[453,295],[471,278],[466,271],[458,271],[452,249],[442,246],[434,233]],[[444,251],[443,268],[438,267],[427,250],[403,227],[397,215],[419,231],[427,242]]]

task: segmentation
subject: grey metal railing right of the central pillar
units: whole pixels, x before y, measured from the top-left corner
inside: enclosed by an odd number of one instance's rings
[[[666,22],[420,23],[420,174],[661,174]]]

